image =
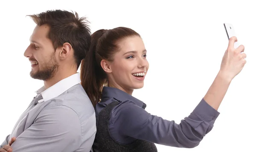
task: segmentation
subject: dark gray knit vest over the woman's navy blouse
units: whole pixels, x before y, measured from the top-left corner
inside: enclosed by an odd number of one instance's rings
[[[108,131],[110,113],[119,102],[108,104],[96,117],[96,137],[93,143],[94,152],[157,152],[154,143],[137,139],[131,144],[121,145],[111,138]],[[150,133],[150,132],[148,132]]]

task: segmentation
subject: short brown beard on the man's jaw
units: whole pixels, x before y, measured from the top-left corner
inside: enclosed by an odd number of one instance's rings
[[[46,62],[44,65],[41,65],[41,67],[42,67],[42,70],[38,70],[35,73],[31,71],[30,76],[33,79],[38,79],[43,81],[47,81],[51,79],[55,75],[56,71],[58,71],[58,63],[56,61],[54,54],[52,54],[49,61]]]

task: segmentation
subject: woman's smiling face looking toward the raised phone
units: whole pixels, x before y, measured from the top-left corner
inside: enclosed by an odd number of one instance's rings
[[[142,88],[149,67],[143,40],[139,36],[127,37],[118,46],[113,61],[108,63],[108,86],[125,92]]]

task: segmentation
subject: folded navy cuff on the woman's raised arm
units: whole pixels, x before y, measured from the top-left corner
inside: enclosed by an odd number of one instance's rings
[[[216,120],[216,118],[218,118],[218,115],[220,114],[217,110],[211,107],[204,99],[202,99],[200,103],[195,107],[193,113],[195,115],[200,116],[208,122]]]

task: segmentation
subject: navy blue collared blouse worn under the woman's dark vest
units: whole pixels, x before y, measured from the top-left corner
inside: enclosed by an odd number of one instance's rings
[[[219,113],[204,99],[180,124],[164,120],[145,111],[146,104],[117,88],[104,87],[102,101],[96,104],[96,116],[112,101],[119,100],[109,120],[111,137],[120,144],[129,144],[136,139],[151,141],[173,147],[198,146],[211,131]]]

